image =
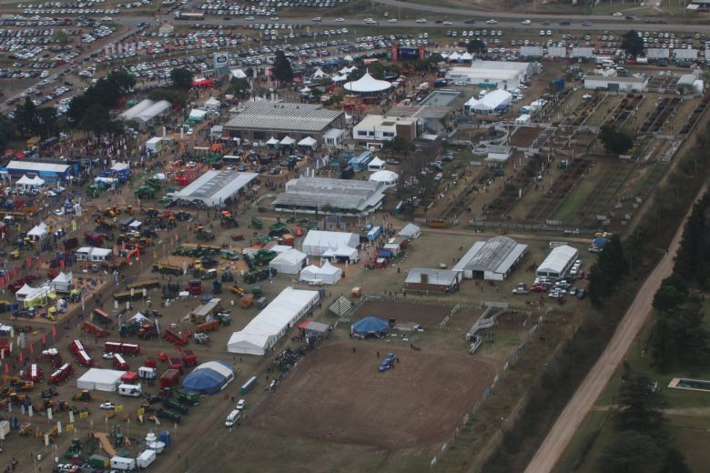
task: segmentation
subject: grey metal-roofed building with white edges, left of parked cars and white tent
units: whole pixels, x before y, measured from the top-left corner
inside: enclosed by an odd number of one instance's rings
[[[525,255],[527,247],[509,237],[477,241],[451,269],[467,279],[502,281]]]

